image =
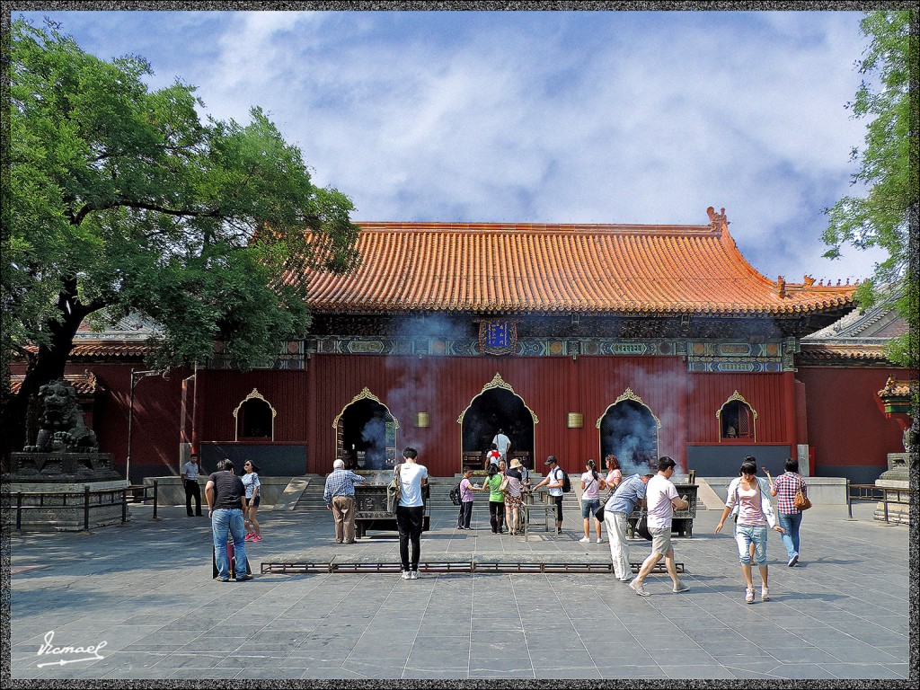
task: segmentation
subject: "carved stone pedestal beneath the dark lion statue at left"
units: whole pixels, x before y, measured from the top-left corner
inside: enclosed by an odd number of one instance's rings
[[[76,532],[121,523],[126,479],[112,469],[106,453],[14,453],[12,472],[3,477],[5,529],[29,532]],[[21,496],[19,496],[21,494]]]

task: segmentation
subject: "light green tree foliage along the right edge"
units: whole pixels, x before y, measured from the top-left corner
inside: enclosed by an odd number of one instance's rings
[[[847,107],[854,118],[868,118],[865,144],[855,148],[859,165],[853,183],[863,196],[846,196],[830,209],[824,255],[840,256],[840,247],[882,247],[888,258],[877,265],[873,279],[857,290],[857,302],[870,306],[896,298],[896,307],[910,332],[891,342],[893,362],[916,368],[918,326],[917,256],[917,11],[868,13],[860,23],[869,44],[859,61],[866,75]]]

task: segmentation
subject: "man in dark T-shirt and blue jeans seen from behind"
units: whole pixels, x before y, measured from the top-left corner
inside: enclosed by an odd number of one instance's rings
[[[246,572],[246,529],[243,513],[246,512],[246,489],[243,480],[234,474],[233,461],[218,464],[217,472],[208,477],[204,486],[208,500],[208,516],[214,541],[214,560],[217,563],[217,580],[230,581],[230,564],[227,562],[227,539],[233,538],[236,581],[252,580]]]

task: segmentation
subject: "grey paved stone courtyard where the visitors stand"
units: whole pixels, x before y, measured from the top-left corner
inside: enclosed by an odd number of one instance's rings
[[[873,506],[815,507],[802,561],[787,568],[770,536],[772,600],[743,601],[733,539],[719,512],[697,513],[675,539],[691,590],[666,575],[638,597],[611,574],[261,575],[291,554],[398,561],[395,534],[336,545],[326,512],[262,512],[247,545],[256,578],[211,577],[210,524],[183,508],[132,506],[126,527],[93,535],[13,535],[11,673],[16,679],[907,679],[908,528],[882,526]],[[609,558],[581,544],[581,516],[561,536],[454,530],[436,512],[422,559],[472,553],[578,562]],[[728,531],[728,530],[727,530]],[[632,560],[649,553],[633,542]],[[756,575],[755,575],[756,581]],[[53,647],[86,653],[39,654]],[[53,650],[52,650],[53,651]],[[102,659],[90,659],[103,657]],[[61,663],[65,661],[65,663]],[[45,664],[41,665],[40,664]],[[913,670],[916,680],[916,669]]]

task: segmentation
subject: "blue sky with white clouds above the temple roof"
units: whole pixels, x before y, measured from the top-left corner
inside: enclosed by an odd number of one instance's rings
[[[19,13],[14,13],[17,17]],[[865,122],[851,12],[40,12],[87,52],[258,105],[357,221],[706,224],[754,268],[865,278],[822,259]]]

